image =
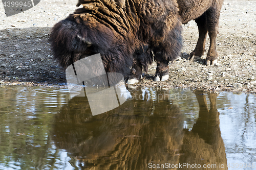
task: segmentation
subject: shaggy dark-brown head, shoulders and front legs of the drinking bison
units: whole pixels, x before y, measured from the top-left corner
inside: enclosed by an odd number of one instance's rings
[[[54,58],[64,68],[82,57],[100,53],[107,72],[125,73],[134,64],[135,77],[154,59],[157,75],[181,50],[181,20],[175,0],[79,0],[74,14],[51,33]],[[167,66],[167,67],[166,67]]]

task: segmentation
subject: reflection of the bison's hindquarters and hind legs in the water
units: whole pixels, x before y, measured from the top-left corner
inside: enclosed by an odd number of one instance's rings
[[[192,130],[184,130],[180,162],[187,164],[216,164],[216,167],[206,169],[227,169],[227,159],[220,131],[220,113],[217,110],[218,94],[208,93],[210,110],[206,96],[201,91],[195,91],[199,103],[199,117]],[[224,164],[223,168],[220,164]],[[195,169],[195,168],[183,168]]]

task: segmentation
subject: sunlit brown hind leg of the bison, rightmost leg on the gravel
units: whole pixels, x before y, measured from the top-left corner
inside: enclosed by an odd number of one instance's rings
[[[221,6],[222,4],[217,5],[217,7],[210,7],[206,11],[207,28],[210,37],[210,47],[206,57],[206,65],[215,65],[218,62],[218,52],[216,50],[216,37],[219,33],[218,30]]]

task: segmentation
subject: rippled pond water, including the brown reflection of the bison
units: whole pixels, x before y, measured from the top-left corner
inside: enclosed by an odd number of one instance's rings
[[[92,116],[67,89],[0,87],[0,169],[256,168],[255,95],[128,90]]]

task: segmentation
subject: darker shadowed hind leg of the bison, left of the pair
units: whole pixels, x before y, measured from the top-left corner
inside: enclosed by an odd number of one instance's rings
[[[196,48],[193,52],[190,53],[189,60],[201,58],[205,51],[205,42],[207,36],[207,20],[206,20],[206,13],[195,19],[197,26],[199,37],[197,40]]]

